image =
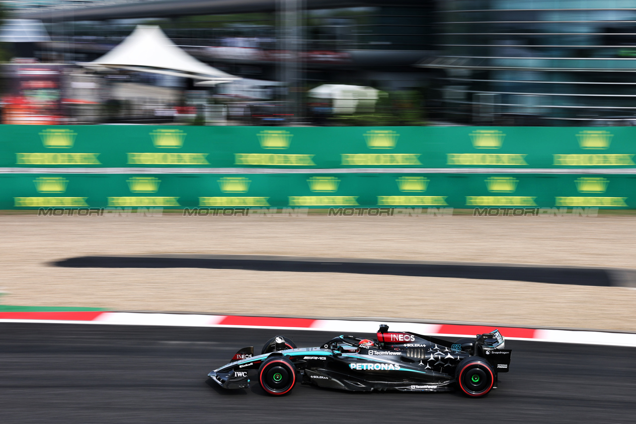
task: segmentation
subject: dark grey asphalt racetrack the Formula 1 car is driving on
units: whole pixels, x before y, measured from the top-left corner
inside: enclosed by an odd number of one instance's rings
[[[487,397],[350,393],[297,385],[270,397],[206,374],[276,334],[317,331],[0,324],[3,423],[633,423],[636,349],[506,341],[511,372]]]

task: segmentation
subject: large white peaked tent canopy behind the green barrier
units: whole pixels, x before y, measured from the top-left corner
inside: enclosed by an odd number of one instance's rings
[[[172,43],[156,25],[137,25],[135,31],[113,50],[93,62],[81,62],[80,65],[213,80],[218,83],[240,79],[191,57]]]

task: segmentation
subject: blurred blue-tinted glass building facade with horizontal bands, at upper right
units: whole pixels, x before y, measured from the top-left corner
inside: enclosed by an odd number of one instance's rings
[[[448,120],[633,125],[635,0],[438,3],[439,98]]]

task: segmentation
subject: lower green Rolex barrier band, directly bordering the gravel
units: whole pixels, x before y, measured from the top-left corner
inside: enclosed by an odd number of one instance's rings
[[[0,174],[0,209],[42,207],[636,209],[636,175]]]

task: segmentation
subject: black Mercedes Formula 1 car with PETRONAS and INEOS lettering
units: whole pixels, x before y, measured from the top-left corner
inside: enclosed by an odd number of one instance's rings
[[[508,373],[510,350],[499,330],[454,342],[414,332],[389,332],[377,339],[338,336],[320,347],[297,348],[284,336],[263,346],[242,348],[232,362],[207,374],[223,388],[248,388],[258,381],[270,395],[289,393],[297,381],[341,390],[446,392],[459,388],[479,397]]]

